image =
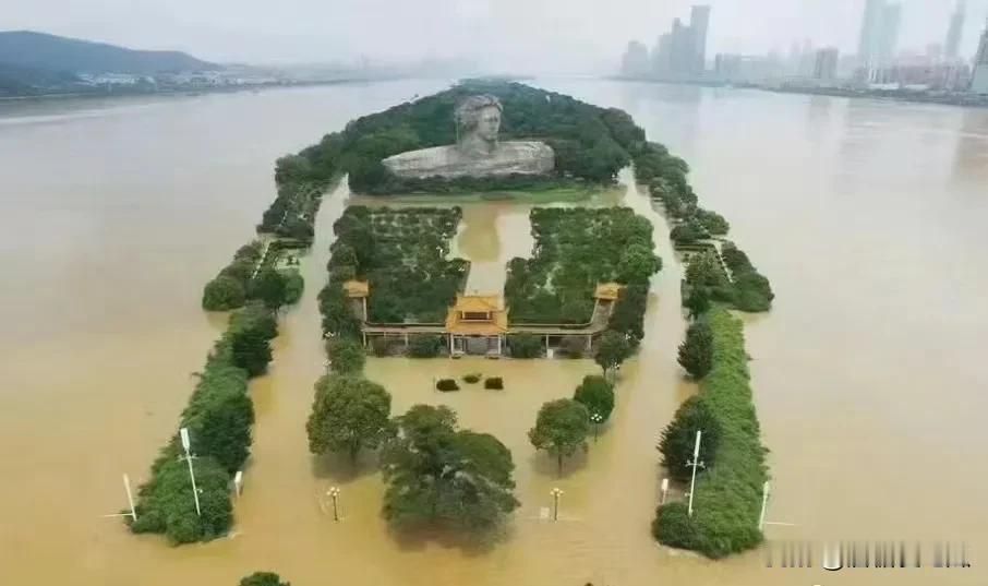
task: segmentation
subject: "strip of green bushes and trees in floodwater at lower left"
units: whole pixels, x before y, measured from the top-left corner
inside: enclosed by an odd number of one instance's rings
[[[198,383],[182,411],[195,455],[202,516],[195,512],[188,463],[178,433],[161,449],[150,479],[137,491],[134,533],[165,534],[172,543],[207,541],[233,523],[230,480],[250,455],[254,407],[248,380],[270,361],[268,342],[277,335],[270,310],[251,303],[233,313],[213,347]]]

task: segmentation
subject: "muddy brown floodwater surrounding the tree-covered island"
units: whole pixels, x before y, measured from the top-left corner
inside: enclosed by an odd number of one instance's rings
[[[274,196],[274,159],[437,81],[260,94],[0,105],[0,584],[232,585],[255,570],[315,584],[978,584],[988,577],[988,110],[768,93],[540,80],[628,110],[692,167],[707,206],[779,298],[746,318],[772,539],[966,540],[969,570],[768,570],[655,546],[655,439],[695,388],[674,356],[680,266],[662,217],[623,174],[620,201],[655,224],[664,270],[647,336],[622,369],[612,422],[556,478],[526,432],[590,361],[370,359],[396,412],[445,403],[514,453],[521,507],[486,543],[399,539],[383,487],[309,455],[323,371],[315,296],[345,188],[324,200],[270,374],[255,381],[253,457],[229,539],[181,548],[101,515],[125,505],[173,431],[224,320],[202,285]],[[527,207],[465,206],[455,252],[470,287],[531,244]],[[433,376],[504,376],[503,392],[432,391]],[[322,497],[341,489],[341,523]],[[562,488],[561,521],[542,521]]]

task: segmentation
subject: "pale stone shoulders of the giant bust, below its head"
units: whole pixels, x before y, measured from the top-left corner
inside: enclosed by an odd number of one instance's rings
[[[555,153],[538,141],[509,141],[483,154],[468,154],[460,145],[436,146],[401,153],[382,163],[396,176],[414,179],[546,175],[555,168]]]

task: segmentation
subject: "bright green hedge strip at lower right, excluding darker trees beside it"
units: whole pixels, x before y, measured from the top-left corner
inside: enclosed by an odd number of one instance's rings
[[[755,412],[743,324],[722,307],[703,319],[713,336],[713,366],[698,397],[720,423],[720,442],[714,463],[697,477],[692,517],[682,502],[662,505],[652,531],[667,546],[723,558],[762,540],[758,515],[768,450]]]

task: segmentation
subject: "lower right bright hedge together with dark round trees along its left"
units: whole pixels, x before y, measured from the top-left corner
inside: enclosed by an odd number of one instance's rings
[[[690,326],[679,359],[699,376],[700,392],[676,411],[659,449],[670,475],[684,480],[700,430],[706,468],[694,487],[692,516],[682,502],[661,505],[652,531],[662,543],[721,558],[761,542],[758,516],[768,480],[740,320],[711,308]]]

